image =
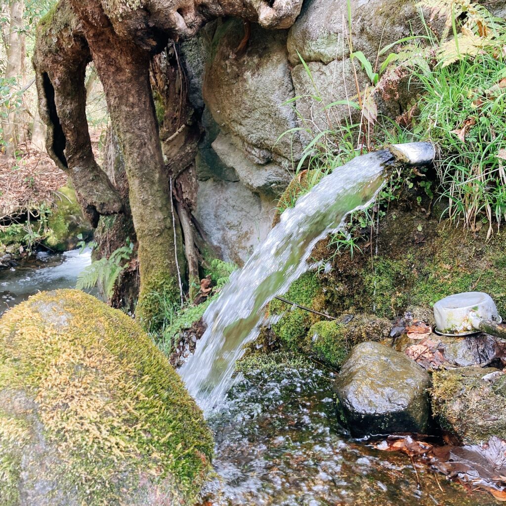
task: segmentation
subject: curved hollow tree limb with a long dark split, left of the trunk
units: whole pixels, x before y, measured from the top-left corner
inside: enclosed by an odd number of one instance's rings
[[[67,2],[37,26],[35,68],[40,117],[47,125],[46,149],[68,172],[83,212],[96,227],[100,215],[119,213],[121,198],[95,161],[86,118],[86,66],[90,49]]]

